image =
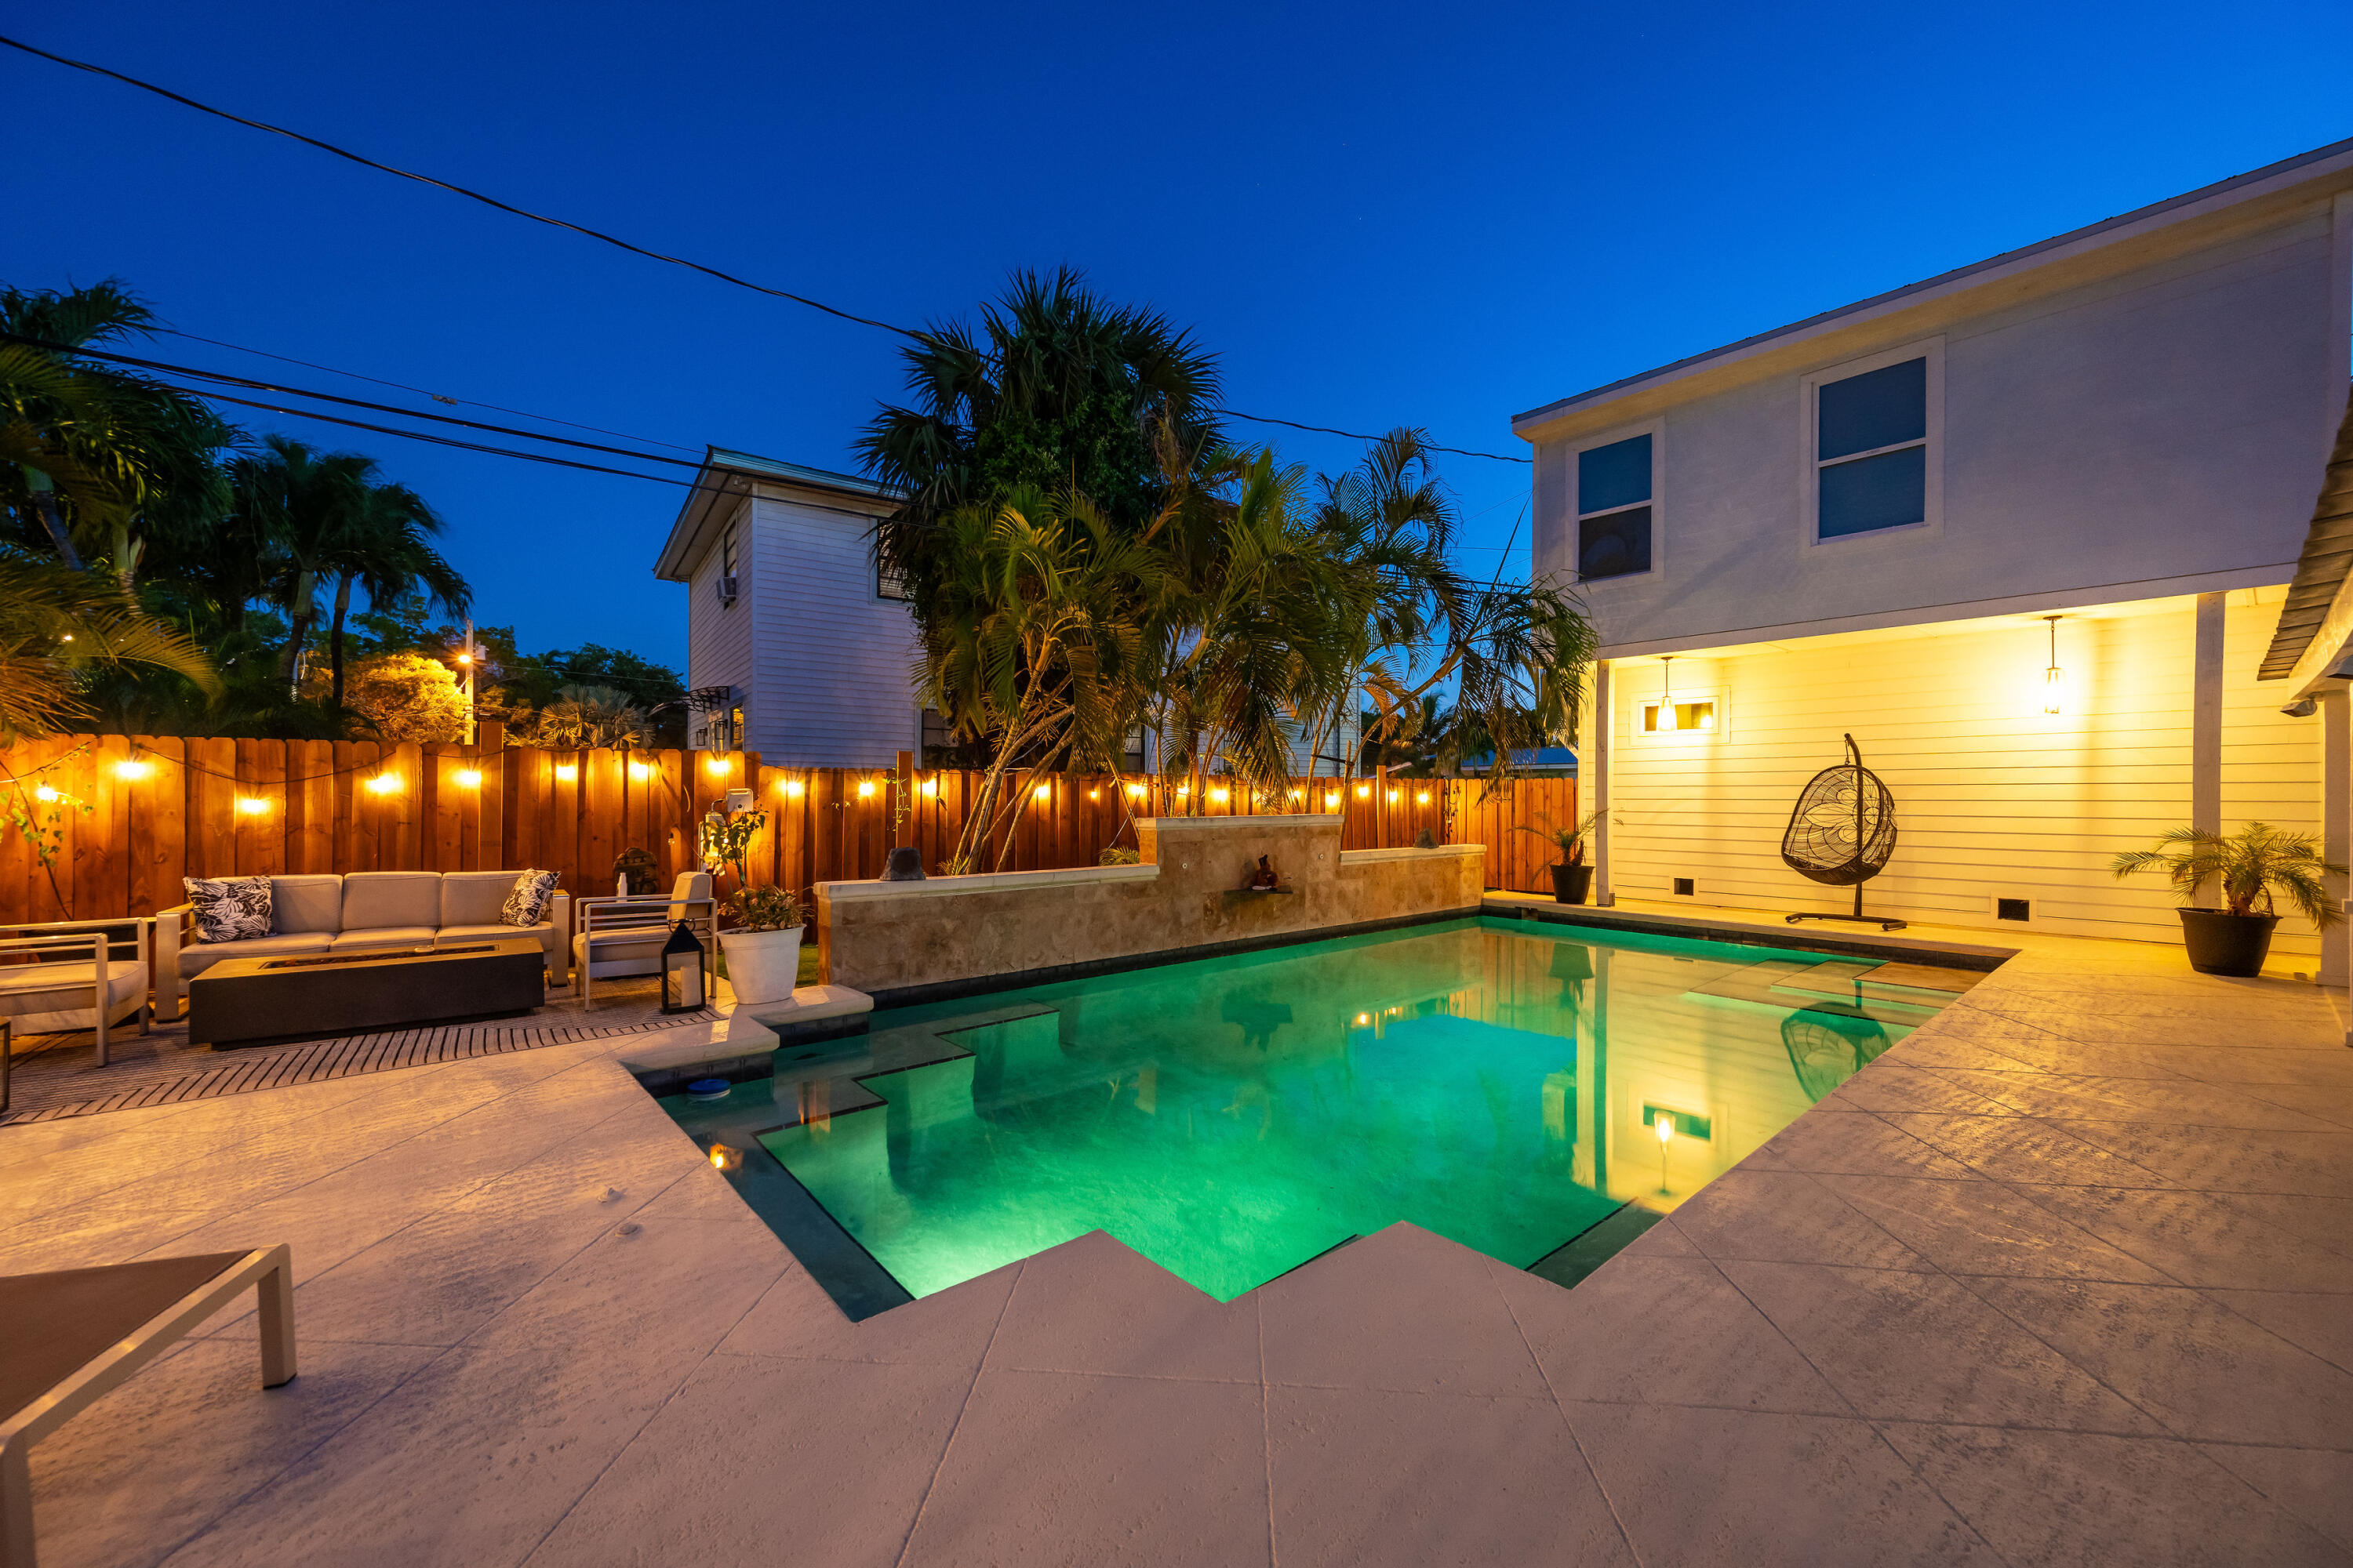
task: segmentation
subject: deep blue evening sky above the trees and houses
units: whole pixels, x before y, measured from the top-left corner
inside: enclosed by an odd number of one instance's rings
[[[1238,409],[1487,451],[1525,451],[1520,409],[2353,134],[2344,0],[68,0],[7,31],[861,315],[1068,261],[1193,324]],[[800,306],[16,52],[0,96],[19,287],[113,273],[186,331],[824,468],[899,390],[894,339]],[[685,663],[649,576],[680,491],[275,425],[421,489],[527,649]],[[1527,468],[1445,477],[1464,559],[1525,571]]]

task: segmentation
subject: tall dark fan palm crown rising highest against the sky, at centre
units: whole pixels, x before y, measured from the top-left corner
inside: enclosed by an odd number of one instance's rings
[[[915,602],[965,581],[946,517],[1012,491],[1073,491],[1113,534],[1139,534],[1217,447],[1217,357],[1167,317],[1106,303],[1071,268],[1014,273],[979,329],[946,322],[906,348],[908,404],[859,437],[866,473],[906,491],[875,550]]]

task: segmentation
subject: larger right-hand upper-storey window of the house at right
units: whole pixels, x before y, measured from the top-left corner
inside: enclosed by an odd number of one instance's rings
[[[1929,520],[1929,357],[1814,383],[1814,538]]]

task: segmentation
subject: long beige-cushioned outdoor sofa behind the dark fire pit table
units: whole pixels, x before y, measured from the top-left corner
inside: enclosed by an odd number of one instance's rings
[[[271,877],[271,933],[207,943],[195,907],[155,917],[155,1018],[179,1018],[188,980],[221,959],[275,959],[372,947],[459,947],[536,936],[548,978],[569,983],[572,896],[555,893],[536,926],[499,919],[520,872],[348,872]]]

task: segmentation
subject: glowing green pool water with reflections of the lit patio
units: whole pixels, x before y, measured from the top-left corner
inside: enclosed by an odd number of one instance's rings
[[[1395,1220],[1527,1267],[1948,999],[1873,969],[1492,917],[1169,964],[875,1013],[939,1060],[760,1143],[911,1295],[1096,1227],[1219,1300]]]

